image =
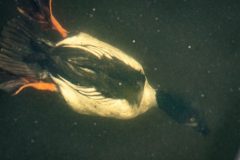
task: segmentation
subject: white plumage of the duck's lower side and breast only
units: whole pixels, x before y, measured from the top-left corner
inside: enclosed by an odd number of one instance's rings
[[[155,91],[146,83],[139,106],[130,105],[125,99],[100,98],[93,99],[73,89],[66,80],[52,76],[60,93],[68,105],[76,112],[87,115],[98,115],[116,119],[130,119],[146,112],[156,105]]]

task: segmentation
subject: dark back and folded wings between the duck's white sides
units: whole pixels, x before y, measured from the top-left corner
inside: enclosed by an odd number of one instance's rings
[[[52,73],[61,75],[75,90],[93,99],[125,99],[139,104],[145,75],[116,57],[97,56],[76,48],[59,47]]]

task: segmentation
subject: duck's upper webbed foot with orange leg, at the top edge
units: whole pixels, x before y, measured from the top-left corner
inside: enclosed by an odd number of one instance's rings
[[[67,30],[53,16],[52,0],[16,0],[18,11],[45,29],[55,29],[65,38]]]

